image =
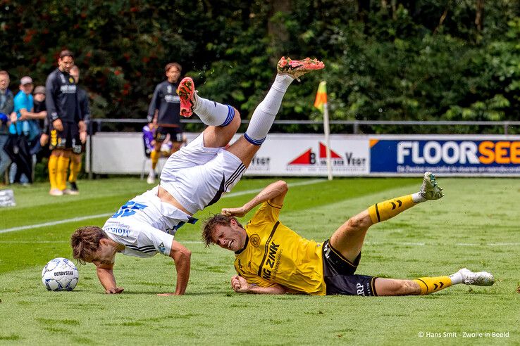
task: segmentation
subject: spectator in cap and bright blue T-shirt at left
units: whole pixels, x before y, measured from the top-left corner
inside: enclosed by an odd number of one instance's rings
[[[34,156],[39,151],[39,135],[40,129],[38,120],[44,119],[47,116],[47,112],[35,113],[34,111],[34,98],[32,97],[32,78],[29,76],[22,77],[20,79],[20,91],[14,96],[14,112],[16,118],[13,117],[9,132],[13,135],[23,135],[29,143],[30,154]],[[11,172],[9,173],[11,183],[16,182],[16,164],[11,166]],[[20,177],[20,183],[28,184],[30,181],[29,177],[22,174]]]

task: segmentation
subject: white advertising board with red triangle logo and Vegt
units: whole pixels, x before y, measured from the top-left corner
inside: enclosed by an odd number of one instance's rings
[[[186,133],[188,141],[198,134]],[[235,135],[232,141],[241,135]],[[330,136],[332,172],[335,177],[369,174],[370,148],[365,137]],[[89,145],[87,144],[87,158]],[[148,172],[142,134],[99,132],[92,136],[92,172],[140,174]],[[161,161],[166,158],[161,158]],[[162,167],[163,162],[159,162]],[[87,171],[90,169],[87,160]],[[269,134],[244,175],[327,177],[326,146],[321,134]]]

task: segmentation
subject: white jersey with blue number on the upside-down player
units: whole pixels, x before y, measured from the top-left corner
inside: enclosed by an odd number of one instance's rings
[[[157,197],[159,187],[129,200],[106,220],[103,231],[118,244],[124,255],[152,257],[157,252],[169,256],[173,236],[186,222],[197,219]]]

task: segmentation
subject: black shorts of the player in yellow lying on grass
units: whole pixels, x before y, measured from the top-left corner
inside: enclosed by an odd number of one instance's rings
[[[323,243],[323,279],[327,295],[378,295],[375,276],[355,275],[361,253],[354,262],[343,257],[330,246],[330,240]]]

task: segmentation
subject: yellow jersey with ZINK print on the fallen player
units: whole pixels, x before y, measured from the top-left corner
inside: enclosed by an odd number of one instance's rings
[[[325,295],[323,243],[309,241],[278,221],[281,205],[264,202],[245,230],[247,241],[235,252],[237,274],[261,287],[278,283],[289,293]]]

